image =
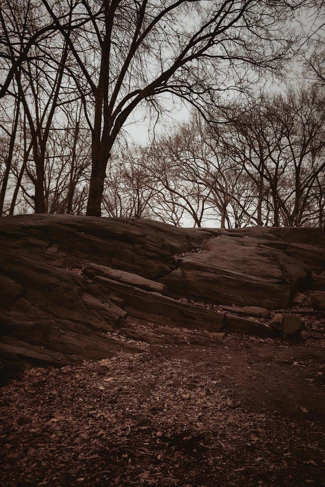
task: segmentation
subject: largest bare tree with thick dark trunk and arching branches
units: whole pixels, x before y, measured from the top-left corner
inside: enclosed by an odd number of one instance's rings
[[[220,91],[247,85],[247,66],[279,72],[295,40],[287,20],[303,2],[42,3],[75,57],[82,95],[89,94],[93,122],[87,214],[99,216],[107,162],[132,111],[145,101],[162,108],[160,97],[169,93],[206,112]],[[72,11],[91,20],[74,35],[64,27]]]

